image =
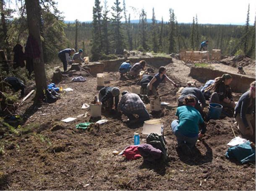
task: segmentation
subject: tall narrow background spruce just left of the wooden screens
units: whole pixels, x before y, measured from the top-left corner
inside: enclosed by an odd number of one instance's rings
[[[169,54],[175,52],[175,15],[172,9],[169,9],[170,21],[169,21]]]

